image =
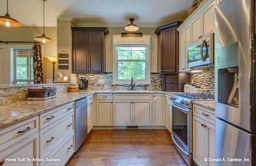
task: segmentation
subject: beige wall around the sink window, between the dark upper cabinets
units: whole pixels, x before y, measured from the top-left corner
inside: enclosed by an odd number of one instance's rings
[[[151,73],[158,73],[158,36],[154,34],[156,28],[140,28],[138,33],[151,35]],[[123,27],[108,28],[110,33],[106,36],[106,72],[112,72],[113,68],[113,40],[112,36],[127,32]]]

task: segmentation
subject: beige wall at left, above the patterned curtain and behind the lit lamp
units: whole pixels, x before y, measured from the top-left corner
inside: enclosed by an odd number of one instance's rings
[[[57,56],[57,27],[46,27],[45,33],[47,37],[52,39],[52,43],[43,45],[43,56]],[[0,27],[0,41],[34,41],[36,36],[42,35],[42,27],[38,26],[22,26],[21,28]],[[20,43],[17,43],[20,44]],[[44,82],[46,79],[52,79],[52,66],[45,63],[44,58]]]

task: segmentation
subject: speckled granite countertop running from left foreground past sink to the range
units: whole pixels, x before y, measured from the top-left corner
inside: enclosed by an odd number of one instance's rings
[[[68,92],[45,101],[21,101],[19,103],[12,103],[8,105],[0,105],[0,130],[9,127],[10,125],[17,124],[18,122],[25,121],[31,117],[38,116],[39,114],[46,113],[52,109],[66,105],[73,101],[88,97],[94,93],[158,93],[172,95],[181,92],[164,92],[164,91],[149,91],[149,90],[97,90],[97,91],[84,91],[84,92]]]

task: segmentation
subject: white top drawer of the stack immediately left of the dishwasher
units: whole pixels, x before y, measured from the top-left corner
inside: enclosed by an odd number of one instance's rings
[[[58,121],[58,119],[62,118],[63,116],[65,116],[68,113],[71,113],[72,111],[74,111],[74,103],[70,103],[68,105],[61,106],[60,108],[56,108],[47,113],[41,114],[40,115],[40,128],[44,128],[47,125],[50,125],[50,124]]]

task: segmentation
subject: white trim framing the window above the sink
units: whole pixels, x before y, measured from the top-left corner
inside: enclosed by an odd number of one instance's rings
[[[151,82],[151,36],[150,35],[143,35],[143,37],[146,37],[150,39],[148,43],[148,49],[147,53],[148,55],[146,56],[146,79],[145,80],[134,80],[135,85],[150,85]],[[113,84],[114,85],[124,85],[124,84],[130,84],[131,80],[118,80],[117,79],[117,71],[118,71],[118,66],[116,65],[117,63],[117,58],[118,56],[116,55],[117,50],[116,50],[116,45],[114,44],[114,39],[115,38],[121,38],[121,35],[113,35]],[[125,37],[122,37],[125,38]]]

